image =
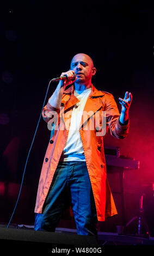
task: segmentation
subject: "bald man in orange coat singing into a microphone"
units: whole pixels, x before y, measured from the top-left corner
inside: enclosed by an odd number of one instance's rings
[[[125,138],[132,94],[126,92],[124,99],[119,98],[119,113],[113,95],[97,90],[91,83],[95,73],[93,60],[87,54],[76,54],[71,70],[61,74],[67,80],[58,83],[42,112],[54,129],[40,175],[35,230],[54,231],[61,212],[69,205],[78,235],[97,236],[97,222],[117,214],[106,176],[102,113],[106,113],[105,126],[111,135]],[[58,118],[53,121],[56,114]],[[91,120],[97,127],[92,125],[91,129]]]

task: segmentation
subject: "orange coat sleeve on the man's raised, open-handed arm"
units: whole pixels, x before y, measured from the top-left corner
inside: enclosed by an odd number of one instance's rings
[[[114,97],[112,94],[106,94],[105,101],[105,110],[106,110],[106,123],[107,130],[109,129],[110,134],[118,139],[123,139],[128,135],[128,130],[130,127],[130,119],[126,125],[122,125],[120,123],[119,117],[119,109],[116,105]]]

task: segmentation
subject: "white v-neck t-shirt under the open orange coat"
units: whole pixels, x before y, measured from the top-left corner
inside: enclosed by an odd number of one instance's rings
[[[74,95],[79,102],[76,104],[77,107],[73,107],[72,110],[69,135],[63,153],[61,154],[60,161],[85,161],[81,136],[79,134],[79,125],[90,92],[91,88],[86,89],[83,92],[78,90],[74,91]]]

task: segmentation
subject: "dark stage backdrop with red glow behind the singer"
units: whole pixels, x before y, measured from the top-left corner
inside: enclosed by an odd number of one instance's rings
[[[97,68],[95,87],[112,93],[119,111],[118,97],[124,97],[126,91],[133,95],[128,137],[118,140],[108,134],[104,145],[119,147],[121,155],[140,161],[139,170],[125,171],[126,221],[138,215],[144,194],[145,215],[153,230],[153,26],[154,9],[147,2],[33,0],[1,4],[1,223],[8,223],[13,212],[48,82],[70,68],[76,53],[84,52]],[[51,84],[47,98],[56,85]],[[34,223],[36,191],[49,137],[41,119],[13,223]]]

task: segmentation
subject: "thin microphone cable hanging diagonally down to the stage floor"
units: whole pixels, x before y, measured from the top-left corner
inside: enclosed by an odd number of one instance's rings
[[[51,82],[54,82],[54,78],[48,83],[48,87],[47,87],[47,91],[46,91],[46,95],[45,95],[45,100],[44,100],[44,103],[43,103],[43,106],[42,106],[42,109],[41,109],[39,121],[38,121],[38,124],[37,124],[37,126],[36,126],[36,130],[35,130],[35,133],[34,133],[34,137],[33,137],[33,140],[32,140],[32,144],[30,145],[30,149],[29,149],[29,153],[28,153],[28,156],[27,156],[26,164],[25,164],[25,166],[24,166],[24,171],[23,171],[23,175],[22,175],[22,181],[21,181],[19,196],[18,196],[18,198],[17,198],[16,204],[15,204],[15,208],[14,208],[14,210],[13,210],[13,214],[11,215],[11,218],[10,218],[10,221],[9,221],[9,223],[8,223],[8,225],[7,225],[7,228],[8,228],[9,225],[10,225],[10,222],[11,222],[11,220],[12,220],[12,218],[13,218],[13,215],[14,215],[14,212],[15,212],[15,209],[16,209],[16,206],[17,206],[17,203],[19,202],[19,197],[20,197],[20,194],[21,194],[21,188],[22,188],[22,184],[23,184],[23,178],[24,178],[24,174],[25,174],[25,170],[26,170],[26,166],[27,166],[27,162],[28,162],[30,150],[32,149],[32,145],[33,145],[33,142],[34,142],[34,139],[35,139],[35,135],[36,135],[36,132],[37,132],[37,130],[38,130],[38,126],[39,126],[39,123],[40,123],[42,111],[43,111],[43,109],[44,109],[46,97],[47,97],[47,94],[48,94],[48,89],[49,89],[49,87],[50,87],[50,83],[51,83]]]

